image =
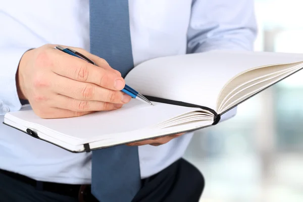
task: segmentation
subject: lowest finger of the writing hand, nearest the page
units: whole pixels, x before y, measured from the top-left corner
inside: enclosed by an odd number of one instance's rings
[[[111,111],[121,108],[122,104],[113,104],[99,101],[79,100],[64,95],[56,95],[51,106],[67,109],[73,112]]]

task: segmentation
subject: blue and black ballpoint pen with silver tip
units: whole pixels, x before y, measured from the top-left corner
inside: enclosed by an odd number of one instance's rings
[[[60,45],[55,47],[56,49],[58,49],[59,51],[62,51],[64,53],[67,53],[71,56],[75,56],[77,58],[81,58],[82,60],[85,60],[86,62],[96,65],[92,60],[88,59],[87,57],[83,56],[82,54],[80,54],[79,52],[74,51],[71,48],[64,48]],[[97,65],[96,65],[97,66]],[[139,92],[137,92],[136,90],[134,90],[133,88],[131,88],[130,86],[126,85],[124,86],[124,88],[121,90],[122,92],[130,95],[131,97],[141,100],[144,103],[148,103],[151,106],[154,106],[153,103],[151,103],[146,97],[144,97],[142,94],[140,94]]]

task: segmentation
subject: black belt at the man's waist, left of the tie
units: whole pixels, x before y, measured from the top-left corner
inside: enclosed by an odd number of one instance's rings
[[[23,183],[29,184],[38,190],[44,190],[53,193],[58,193],[61,195],[75,197],[78,198],[79,201],[97,201],[94,198],[94,196],[90,193],[90,185],[42,182],[42,181],[34,180],[24,175],[20,175],[18,173],[13,173],[2,169],[0,169],[0,173],[7,175],[18,181],[21,181]]]

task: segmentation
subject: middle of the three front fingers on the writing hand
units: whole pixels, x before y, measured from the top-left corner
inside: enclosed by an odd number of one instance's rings
[[[106,103],[126,104],[131,97],[121,91],[110,90],[92,83],[84,83],[54,75],[52,89],[58,93],[78,100],[95,100]]]

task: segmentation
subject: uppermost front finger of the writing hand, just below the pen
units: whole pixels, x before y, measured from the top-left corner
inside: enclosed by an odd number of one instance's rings
[[[56,51],[58,60],[52,66],[52,71],[61,76],[87,83],[94,83],[98,86],[112,90],[122,90],[125,81],[117,73],[103,67],[97,67],[77,57],[70,56],[63,52]]]

